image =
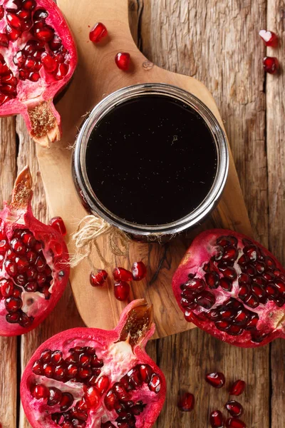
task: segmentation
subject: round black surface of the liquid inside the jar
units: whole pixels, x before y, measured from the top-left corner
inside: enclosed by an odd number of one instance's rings
[[[162,225],[202,203],[217,173],[217,149],[192,108],[148,95],[116,106],[95,126],[86,170],[95,195],[113,214]]]

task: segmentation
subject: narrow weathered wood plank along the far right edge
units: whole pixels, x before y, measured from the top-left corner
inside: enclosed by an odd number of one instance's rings
[[[266,142],[269,180],[269,245],[271,251],[285,265],[285,3],[268,0],[267,29],[279,36],[278,49],[268,48],[266,55],[276,56],[283,70],[276,76],[266,76]],[[285,329],[285,325],[284,325]],[[285,341],[271,345],[271,427],[284,427],[284,370]]]

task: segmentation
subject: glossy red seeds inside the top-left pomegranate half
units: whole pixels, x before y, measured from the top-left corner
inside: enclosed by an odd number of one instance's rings
[[[0,46],[9,49],[9,42],[14,43],[21,36],[28,39],[26,46],[16,52],[13,58],[19,69],[19,79],[38,81],[43,66],[56,80],[61,80],[68,73],[69,55],[54,29],[46,23],[48,11],[36,9],[35,0],[17,0],[14,5],[16,7],[12,9],[1,6],[0,20],[6,19],[6,28],[0,34]],[[0,62],[1,105],[16,97],[18,78],[6,65],[2,55]]]

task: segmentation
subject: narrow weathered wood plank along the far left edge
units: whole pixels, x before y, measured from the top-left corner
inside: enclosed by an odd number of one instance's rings
[[[0,206],[9,200],[16,178],[16,133],[14,118],[0,120]],[[16,337],[0,337],[0,422],[4,428],[16,428]],[[9,391],[9,394],[7,394]]]

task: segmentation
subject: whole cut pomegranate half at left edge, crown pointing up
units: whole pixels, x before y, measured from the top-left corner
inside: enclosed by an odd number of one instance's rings
[[[0,335],[35,328],[56,306],[68,282],[68,250],[61,233],[33,217],[26,166],[10,205],[0,212]]]

